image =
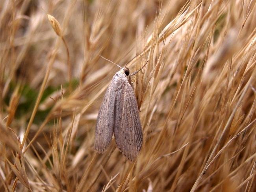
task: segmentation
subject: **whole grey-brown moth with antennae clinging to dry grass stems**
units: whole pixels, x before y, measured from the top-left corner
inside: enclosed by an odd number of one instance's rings
[[[133,162],[143,143],[139,109],[130,78],[139,70],[130,75],[126,66],[119,68],[106,90],[98,113],[94,148],[99,153],[104,153],[114,134],[119,150],[126,159]]]

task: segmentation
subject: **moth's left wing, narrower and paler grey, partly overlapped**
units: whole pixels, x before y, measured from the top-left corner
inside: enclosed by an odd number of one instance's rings
[[[97,117],[94,148],[99,153],[104,153],[106,151],[113,136],[115,121],[115,89],[113,84],[114,82],[111,81],[106,90]]]

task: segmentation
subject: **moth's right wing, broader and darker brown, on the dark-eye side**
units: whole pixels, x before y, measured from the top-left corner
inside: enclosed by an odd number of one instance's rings
[[[139,109],[128,79],[123,79],[122,84],[116,95],[114,135],[122,154],[135,161],[143,143]]]

